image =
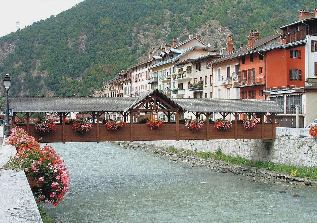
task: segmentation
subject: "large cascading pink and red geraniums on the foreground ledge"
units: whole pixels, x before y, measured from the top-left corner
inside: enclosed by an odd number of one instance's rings
[[[39,145],[22,128],[13,128],[6,143],[15,146],[17,153],[2,168],[24,170],[30,187],[39,187],[34,192],[36,203],[43,201],[44,204],[50,203],[56,207],[64,200],[64,195],[69,190],[69,174],[62,164],[64,160],[54,149],[49,145]]]

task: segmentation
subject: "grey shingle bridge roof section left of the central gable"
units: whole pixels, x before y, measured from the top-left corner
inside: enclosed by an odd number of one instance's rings
[[[3,98],[6,101],[5,98]],[[136,98],[124,97],[10,97],[13,112],[125,111]],[[5,104],[5,103],[4,103]],[[6,105],[4,105],[6,109]]]

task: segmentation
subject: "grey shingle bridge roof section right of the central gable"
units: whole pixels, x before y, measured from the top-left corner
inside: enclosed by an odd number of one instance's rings
[[[188,112],[283,112],[273,100],[172,98]]]

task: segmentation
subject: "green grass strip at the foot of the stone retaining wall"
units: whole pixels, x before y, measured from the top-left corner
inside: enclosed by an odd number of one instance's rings
[[[231,155],[226,155],[222,153],[221,149],[218,148],[215,153],[212,152],[197,152],[192,150],[184,151],[184,149],[177,150],[173,146],[170,146],[166,149],[166,151],[170,151],[173,153],[176,152],[183,152],[187,155],[194,153],[195,155],[199,155],[201,158],[213,158],[215,160],[222,160],[225,162],[230,162],[233,164],[243,164],[250,167],[259,167],[265,168],[268,170],[272,170],[278,173],[285,173],[289,174],[293,177],[302,177],[310,180],[317,180],[317,167],[296,167],[296,166],[289,166],[289,165],[278,165],[272,162],[262,162],[262,161],[251,161],[240,156],[234,157]]]

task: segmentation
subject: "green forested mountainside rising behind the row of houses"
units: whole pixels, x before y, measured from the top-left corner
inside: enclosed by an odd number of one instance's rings
[[[222,46],[231,33],[239,46],[249,30],[273,34],[296,21],[299,9],[316,6],[311,0],[86,0],[0,38],[0,74],[11,75],[11,95],[89,95],[160,43],[201,33],[204,42]]]

